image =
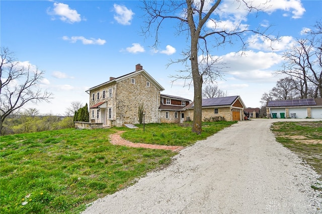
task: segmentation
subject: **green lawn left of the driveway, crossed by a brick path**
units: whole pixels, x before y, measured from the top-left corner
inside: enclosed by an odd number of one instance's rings
[[[109,135],[148,144],[189,146],[233,122],[191,127],[146,124],[139,129],[61,129],[0,137],[0,213],[79,213],[86,204],[132,185],[148,171],[169,165],[166,150],[112,145]]]

